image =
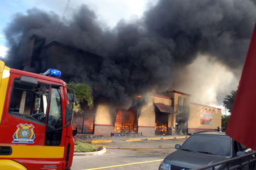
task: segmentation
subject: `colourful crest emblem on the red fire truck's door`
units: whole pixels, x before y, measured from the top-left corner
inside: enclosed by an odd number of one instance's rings
[[[34,143],[35,134],[33,128],[35,126],[20,123],[17,127],[12,143]]]

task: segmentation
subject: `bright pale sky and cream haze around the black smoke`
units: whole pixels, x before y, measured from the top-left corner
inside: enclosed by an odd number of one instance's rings
[[[0,56],[4,57],[8,51],[4,30],[13,19],[14,14],[26,14],[28,9],[36,7],[45,11],[53,11],[61,16],[67,2],[68,0],[0,1],[2,14],[0,15]],[[154,6],[156,2],[158,0],[71,0],[65,18],[69,19],[69,16],[74,13],[77,6],[84,3],[96,13],[97,20],[102,26],[113,28],[121,19],[129,21],[141,18],[144,11]],[[241,70],[238,70],[238,75],[241,74]],[[225,65],[213,62],[208,56],[200,54],[180,74],[188,75],[189,81],[193,82],[193,85],[187,86],[188,78],[179,76],[177,78],[179,86],[174,85],[175,90],[189,94],[192,92],[193,94],[204,94],[204,96],[192,95],[191,101],[221,108],[219,101],[222,101],[223,96],[231,92],[231,90],[236,90],[239,81],[239,76],[234,76],[234,72],[226,69]],[[218,93],[222,92],[223,95],[217,96],[217,91]]]

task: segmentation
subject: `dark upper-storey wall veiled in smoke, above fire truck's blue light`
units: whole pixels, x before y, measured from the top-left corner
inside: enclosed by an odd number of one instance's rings
[[[77,77],[77,74],[98,72],[101,65],[100,56],[59,42],[47,44],[40,52],[39,58],[42,61],[41,72],[48,68],[59,69],[62,73],[61,79],[66,82],[74,81],[72,78]]]

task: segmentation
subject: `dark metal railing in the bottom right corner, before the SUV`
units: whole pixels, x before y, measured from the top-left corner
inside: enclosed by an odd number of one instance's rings
[[[192,170],[203,170],[203,169],[256,169],[256,152],[246,154],[243,156],[233,157],[228,160],[219,161],[214,164],[205,165],[199,168],[193,168]]]

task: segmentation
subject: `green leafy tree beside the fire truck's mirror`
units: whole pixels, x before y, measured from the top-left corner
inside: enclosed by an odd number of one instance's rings
[[[77,113],[82,113],[81,103],[85,101],[88,103],[89,108],[92,109],[93,107],[92,89],[88,84],[69,82],[67,86],[76,91],[76,105],[74,106],[74,110]]]

